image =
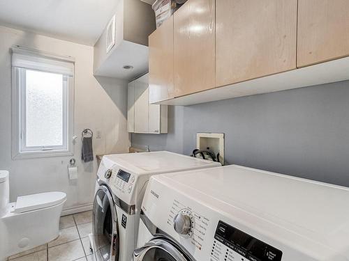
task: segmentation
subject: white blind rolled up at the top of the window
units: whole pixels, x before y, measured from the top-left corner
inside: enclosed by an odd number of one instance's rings
[[[12,66],[44,72],[74,75],[74,60],[22,47],[12,47]]]

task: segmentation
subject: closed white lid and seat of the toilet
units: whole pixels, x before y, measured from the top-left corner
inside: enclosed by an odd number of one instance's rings
[[[17,198],[15,213],[22,213],[31,210],[52,207],[63,203],[66,200],[66,193],[63,192],[45,192]]]

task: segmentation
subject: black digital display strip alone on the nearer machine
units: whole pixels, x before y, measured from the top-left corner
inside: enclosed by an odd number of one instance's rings
[[[223,221],[218,222],[214,238],[251,261],[281,261],[282,252]]]

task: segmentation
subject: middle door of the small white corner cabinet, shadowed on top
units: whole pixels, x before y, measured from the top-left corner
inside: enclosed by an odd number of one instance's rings
[[[148,132],[148,115],[148,84],[142,81],[135,81],[135,133]]]

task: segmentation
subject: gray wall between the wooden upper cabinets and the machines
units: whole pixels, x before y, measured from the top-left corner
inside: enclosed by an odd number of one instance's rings
[[[170,106],[168,116],[169,134],[132,134],[132,145],[189,155],[197,132],[220,132],[226,164],[349,187],[349,81]]]

